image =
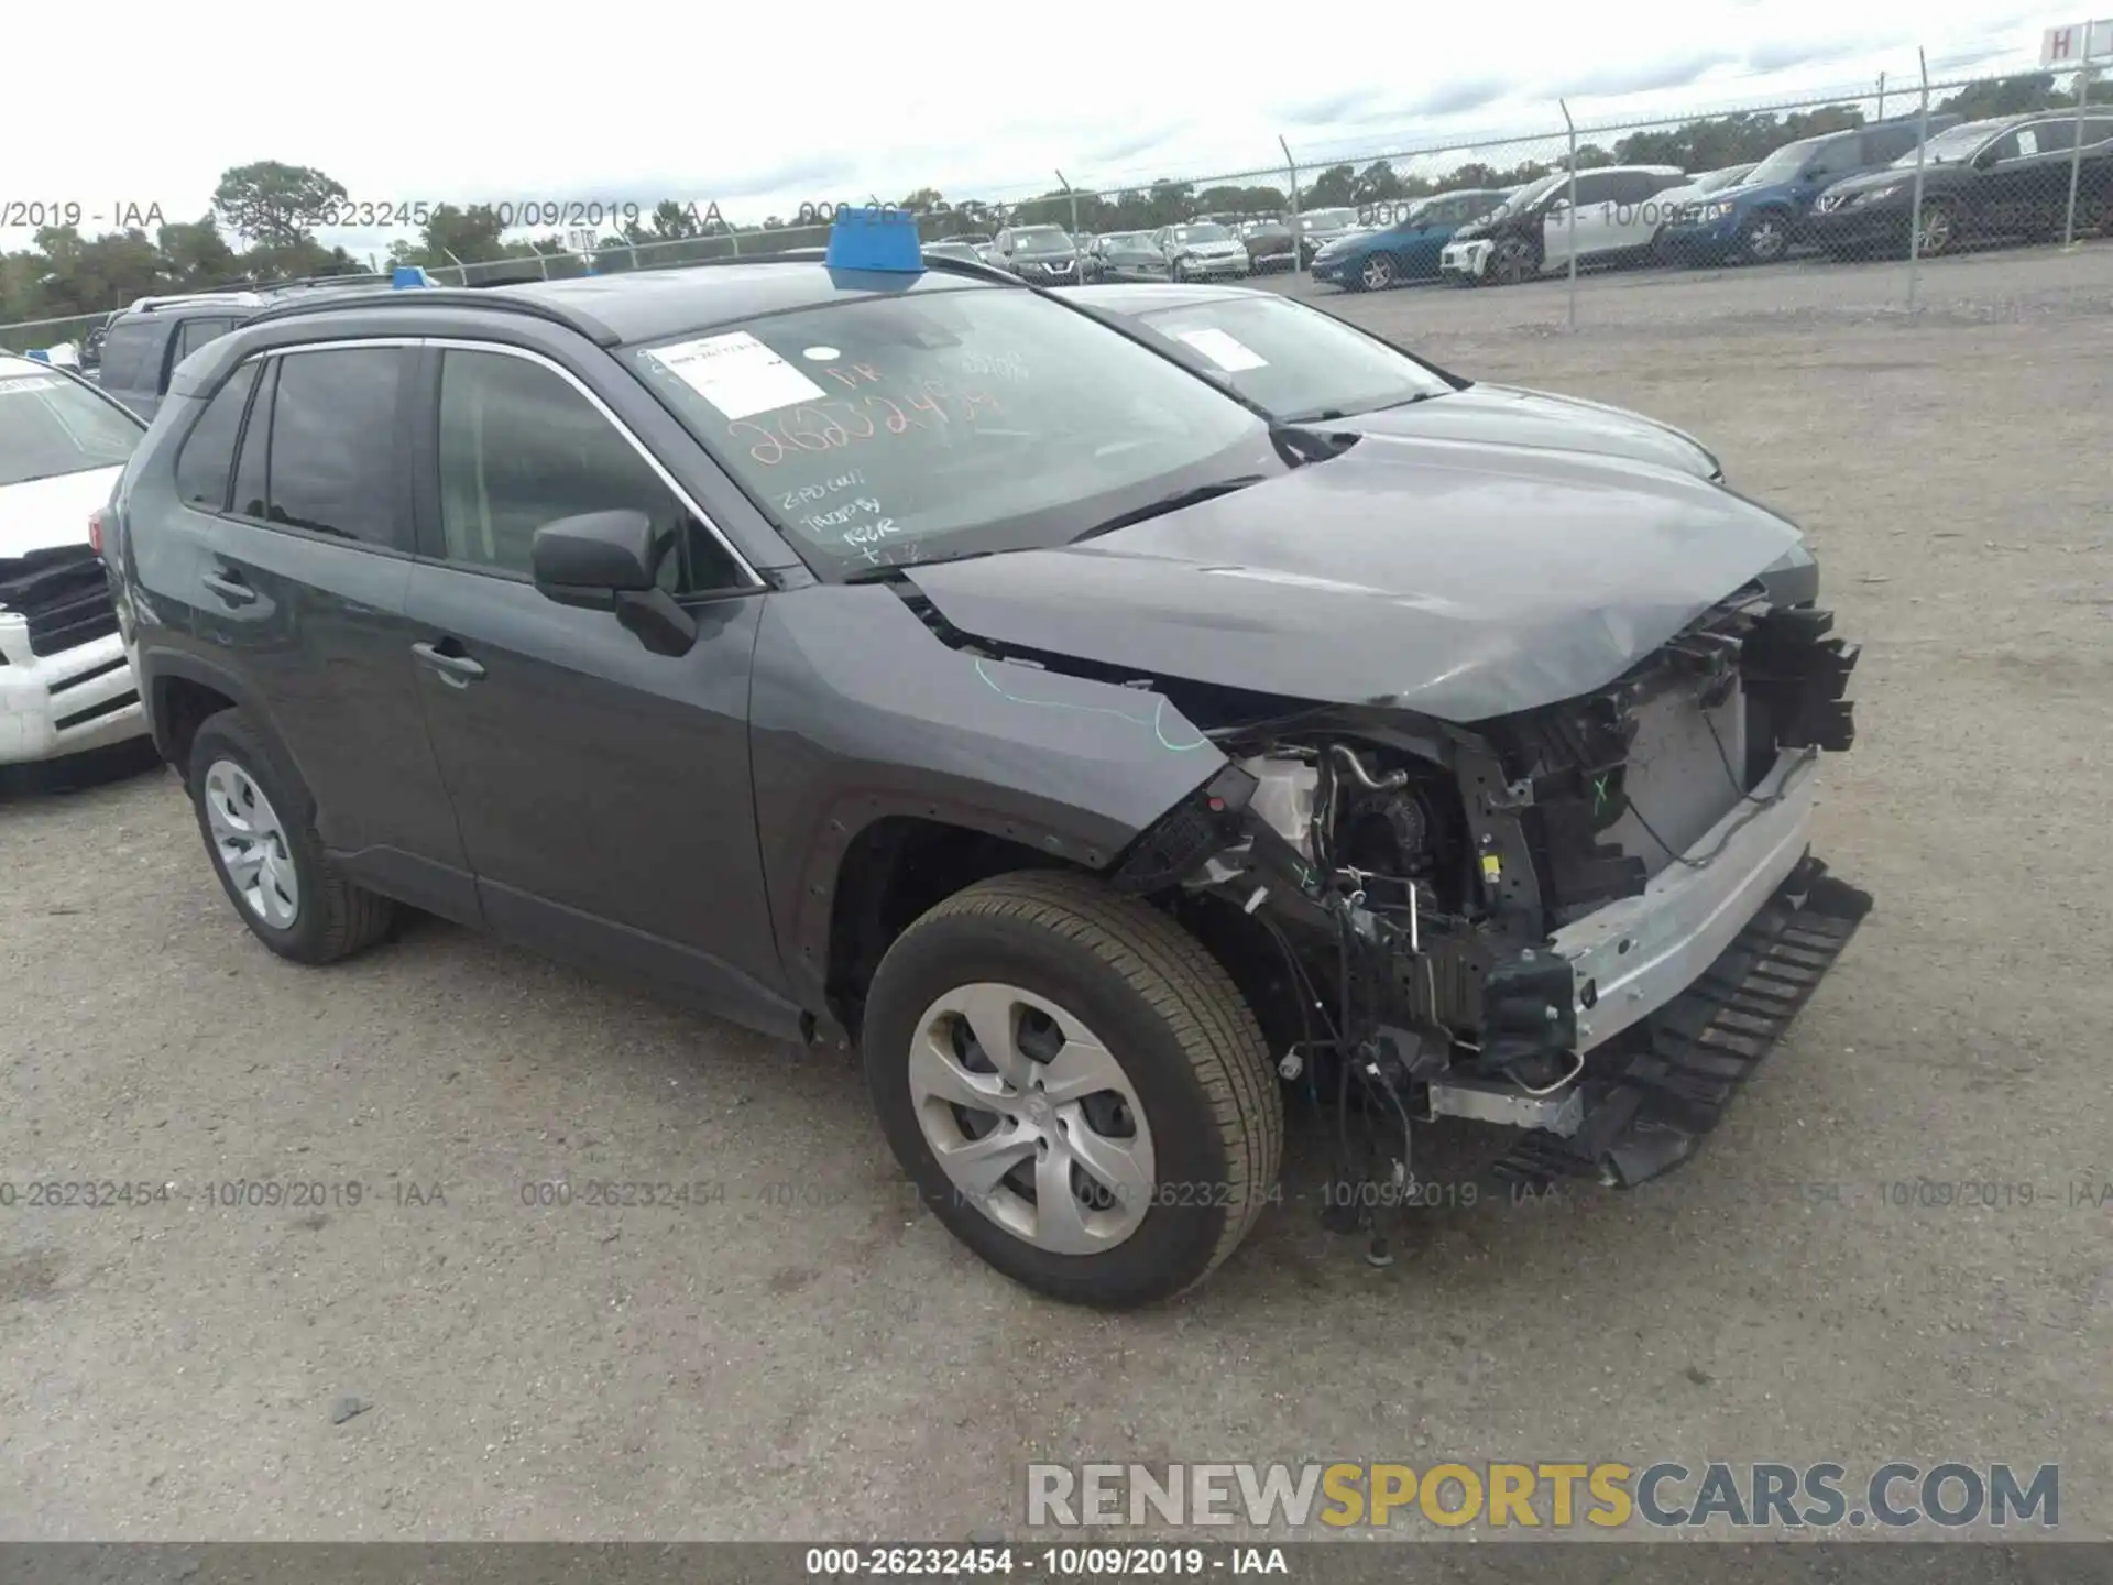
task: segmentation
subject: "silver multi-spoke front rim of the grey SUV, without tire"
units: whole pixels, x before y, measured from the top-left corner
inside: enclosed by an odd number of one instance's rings
[[[1137,1090],[1092,1029],[1046,997],[953,987],[917,1021],[909,1088],[955,1192],[1035,1249],[1097,1255],[1152,1209]]]

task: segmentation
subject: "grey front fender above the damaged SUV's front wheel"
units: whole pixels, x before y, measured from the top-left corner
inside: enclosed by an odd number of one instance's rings
[[[778,594],[750,697],[756,839],[794,997],[826,1008],[845,850],[915,816],[1107,871],[1226,754],[1152,691],[985,659],[881,583]]]

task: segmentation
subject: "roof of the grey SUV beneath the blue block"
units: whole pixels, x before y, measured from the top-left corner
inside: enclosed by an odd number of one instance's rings
[[[917,275],[881,271],[830,271],[822,260],[729,260],[687,264],[666,271],[625,271],[571,281],[509,281],[488,287],[412,287],[404,292],[361,292],[302,296],[275,302],[249,323],[328,315],[368,319],[420,306],[528,313],[571,325],[602,347],[659,340],[685,330],[733,319],[754,319],[792,309],[820,309],[862,298],[894,298],[904,292],[964,292],[1031,287],[993,279],[980,266],[949,271],[942,260],[925,260]]]

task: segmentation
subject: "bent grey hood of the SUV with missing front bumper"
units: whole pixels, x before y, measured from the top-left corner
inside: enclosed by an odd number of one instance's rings
[[[1367,437],[1082,545],[909,568],[966,634],[1471,723],[1612,683],[1798,530],[1688,473]]]

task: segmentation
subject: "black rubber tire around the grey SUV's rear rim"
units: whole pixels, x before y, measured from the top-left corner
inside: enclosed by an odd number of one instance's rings
[[[243,902],[241,890],[220,858],[205,809],[205,776],[218,761],[232,761],[245,771],[281,820],[285,854],[294,864],[300,890],[294,921],[285,928],[258,917],[256,909]],[[190,788],[199,835],[205,839],[213,875],[220,877],[220,890],[228,894],[228,902],[251,934],[275,953],[296,964],[334,964],[389,934],[395,902],[353,885],[330,860],[321,837],[315,835],[315,799],[241,710],[222,710],[199,727],[199,735],[190,744],[184,784]]]

